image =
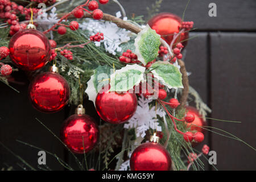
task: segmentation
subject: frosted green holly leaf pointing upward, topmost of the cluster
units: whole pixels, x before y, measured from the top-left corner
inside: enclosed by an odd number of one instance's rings
[[[144,65],[158,57],[160,35],[147,24],[135,39],[135,54]]]

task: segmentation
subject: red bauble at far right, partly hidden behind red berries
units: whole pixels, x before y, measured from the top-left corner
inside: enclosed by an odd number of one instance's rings
[[[188,111],[188,113],[191,113],[193,115],[195,115],[195,119],[193,120],[193,122],[191,123],[187,123],[187,128],[190,129],[190,131],[194,131],[194,132],[201,132],[203,133],[203,126],[205,126],[205,122],[203,120],[203,118],[201,118],[201,115],[198,113],[198,111],[194,108],[194,107],[191,107],[191,106],[186,106],[185,107]]]

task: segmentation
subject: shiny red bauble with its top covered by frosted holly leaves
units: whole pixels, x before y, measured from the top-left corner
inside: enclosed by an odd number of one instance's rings
[[[96,97],[96,110],[101,119],[113,124],[128,121],[135,113],[138,101],[135,93],[101,90]]]

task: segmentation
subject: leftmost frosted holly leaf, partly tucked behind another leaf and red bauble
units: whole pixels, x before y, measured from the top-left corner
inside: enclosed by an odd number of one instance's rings
[[[85,93],[88,94],[89,100],[93,101],[95,105],[96,96],[98,91],[102,86],[109,84],[111,67],[108,65],[99,66],[94,69],[94,74],[90,77],[90,80],[87,82],[87,88]]]

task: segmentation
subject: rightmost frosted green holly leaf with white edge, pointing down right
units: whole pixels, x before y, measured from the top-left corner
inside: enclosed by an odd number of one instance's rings
[[[182,75],[179,68],[169,62],[158,61],[151,65],[152,73],[162,84],[171,88],[183,88]]]

